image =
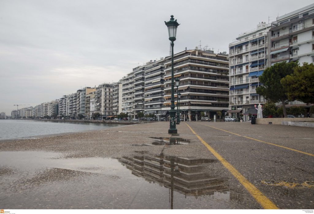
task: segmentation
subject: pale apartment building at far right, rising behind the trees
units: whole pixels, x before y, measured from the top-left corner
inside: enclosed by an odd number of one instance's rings
[[[314,4],[279,16],[270,32],[272,65],[283,61],[298,61],[300,65],[314,62]],[[288,102],[286,107],[292,105],[311,107],[300,101]]]

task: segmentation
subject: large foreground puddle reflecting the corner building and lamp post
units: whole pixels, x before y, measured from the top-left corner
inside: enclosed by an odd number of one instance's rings
[[[0,152],[2,205],[24,209],[230,209],[229,182],[208,174],[217,160],[148,156],[62,158]]]

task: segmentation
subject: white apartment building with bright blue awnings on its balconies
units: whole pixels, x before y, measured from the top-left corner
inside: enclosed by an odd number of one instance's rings
[[[258,77],[270,66],[268,60],[269,29],[271,24],[259,23],[256,29],[245,32],[229,44],[229,106],[227,113],[239,117],[258,103],[265,103],[256,94],[261,85]],[[244,120],[249,120],[248,115]]]

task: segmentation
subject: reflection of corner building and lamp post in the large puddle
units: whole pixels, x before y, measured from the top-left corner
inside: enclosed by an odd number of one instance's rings
[[[180,158],[172,156],[133,156],[120,158],[119,161],[132,174],[149,182],[158,182],[169,189],[171,209],[173,192],[187,196],[219,195],[229,193],[227,179],[205,174],[202,163],[217,162],[212,159]]]

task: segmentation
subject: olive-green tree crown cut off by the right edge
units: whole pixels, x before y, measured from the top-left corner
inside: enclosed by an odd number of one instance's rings
[[[290,100],[299,100],[310,104],[314,103],[314,65],[303,63],[303,66],[294,68],[294,72],[282,78],[280,83],[286,89]]]

